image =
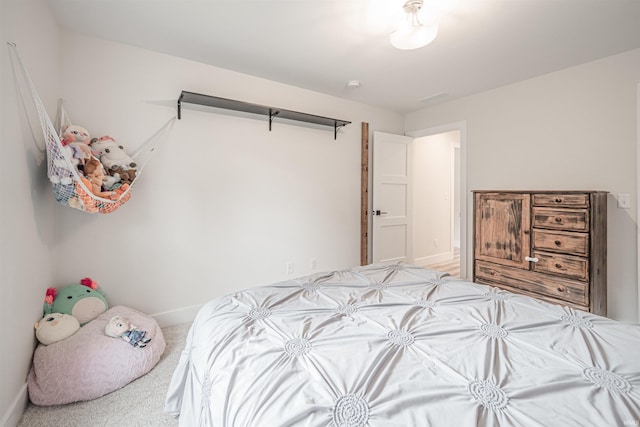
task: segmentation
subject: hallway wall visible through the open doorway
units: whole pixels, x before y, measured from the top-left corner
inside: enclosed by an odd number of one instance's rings
[[[413,247],[415,262],[453,258],[454,145],[459,132],[416,138],[413,143]]]

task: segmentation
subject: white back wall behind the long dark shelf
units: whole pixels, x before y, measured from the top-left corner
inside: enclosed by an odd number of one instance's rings
[[[71,118],[131,150],[175,116],[181,90],[352,123],[334,140],[333,128],[276,119],[269,132],[264,119],[184,107],[127,205],[56,207],[56,282],[89,275],[111,305],[158,314],[309,274],[310,258],[320,271],[359,263],[360,123],[401,133],[401,115],[78,34],[63,46]]]

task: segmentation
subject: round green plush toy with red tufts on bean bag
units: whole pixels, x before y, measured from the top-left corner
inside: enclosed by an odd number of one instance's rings
[[[47,289],[44,299],[44,314],[70,314],[80,325],[95,319],[109,308],[107,299],[97,282],[85,277],[80,284],[67,285],[60,289]]]

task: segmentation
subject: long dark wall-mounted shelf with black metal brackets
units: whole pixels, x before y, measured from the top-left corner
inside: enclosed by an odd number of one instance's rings
[[[233,99],[220,98],[217,96],[203,95],[200,93],[182,91],[178,98],[178,120],[182,118],[182,103],[204,105],[213,108],[240,111],[269,117],[269,131],[276,117],[286,120],[293,120],[302,123],[310,123],[320,126],[333,127],[333,139],[338,139],[338,129],[351,122],[346,120],[332,119],[329,117],[316,116],[314,114],[300,113],[298,111],[284,110],[282,108],[267,107],[265,105],[251,104]]]

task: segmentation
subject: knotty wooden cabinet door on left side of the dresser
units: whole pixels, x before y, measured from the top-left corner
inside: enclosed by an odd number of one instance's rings
[[[530,195],[476,193],[475,198],[475,258],[528,270]]]

